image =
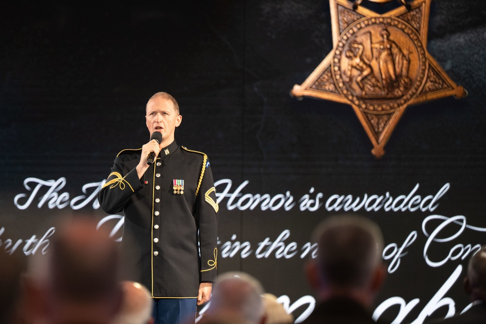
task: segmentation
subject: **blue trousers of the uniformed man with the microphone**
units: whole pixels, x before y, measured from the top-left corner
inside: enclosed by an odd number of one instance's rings
[[[154,324],[194,324],[197,298],[154,298]]]

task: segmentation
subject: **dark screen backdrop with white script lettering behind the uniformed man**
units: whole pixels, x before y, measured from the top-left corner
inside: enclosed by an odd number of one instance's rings
[[[211,162],[219,273],[254,275],[300,322],[312,230],[355,211],[384,234],[376,316],[468,306],[465,266],[486,243],[482,0],[432,2],[428,51],[469,96],[409,107],[380,160],[351,106],[289,95],[332,49],[327,0],[158,2],[0,5],[2,253],[49,253],[78,213],[121,238],[95,194],[117,153],[148,141],[145,102],[163,90],[181,107],[177,143]]]

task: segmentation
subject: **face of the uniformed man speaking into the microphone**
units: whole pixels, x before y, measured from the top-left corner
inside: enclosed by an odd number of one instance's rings
[[[146,125],[150,136],[154,132],[162,134],[162,141],[170,144],[174,140],[175,127],[179,127],[182,116],[174,109],[174,103],[163,98],[154,98],[147,103]]]

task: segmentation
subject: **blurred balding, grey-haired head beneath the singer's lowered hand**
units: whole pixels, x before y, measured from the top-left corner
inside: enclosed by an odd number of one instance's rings
[[[228,272],[218,276],[205,312],[205,322],[223,322],[231,318],[247,324],[263,323],[262,293],[260,282],[247,273]]]

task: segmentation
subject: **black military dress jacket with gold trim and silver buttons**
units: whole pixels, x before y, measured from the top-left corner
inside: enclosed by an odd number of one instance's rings
[[[153,297],[197,298],[199,283],[213,281],[217,265],[218,204],[208,157],[174,141],[139,179],[140,153],[121,151],[98,193],[106,213],[124,212],[125,269]]]

